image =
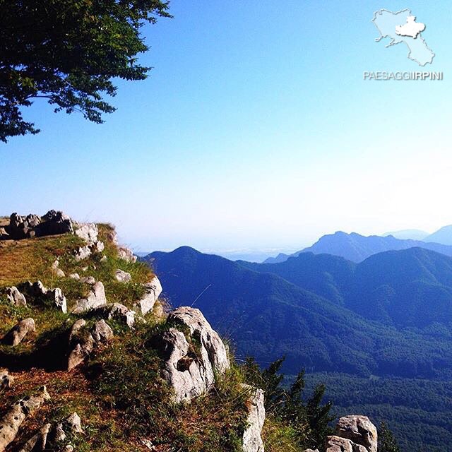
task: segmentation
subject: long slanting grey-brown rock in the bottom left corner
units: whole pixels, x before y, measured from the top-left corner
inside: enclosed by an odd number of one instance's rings
[[[50,400],[50,396],[46,387],[42,386],[36,394],[24,397],[11,405],[0,420],[0,452],[4,452],[8,444],[16,438],[25,418],[38,410],[46,400]]]

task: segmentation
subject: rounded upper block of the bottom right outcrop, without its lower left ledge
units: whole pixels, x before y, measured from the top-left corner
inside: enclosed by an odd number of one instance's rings
[[[355,444],[364,446],[367,452],[376,452],[377,432],[367,416],[344,416],[338,420],[336,436],[350,439]]]

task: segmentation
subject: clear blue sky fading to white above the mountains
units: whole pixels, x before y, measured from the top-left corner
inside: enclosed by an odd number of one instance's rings
[[[172,0],[146,28],[146,81],[101,126],[25,111],[0,145],[0,214],[107,220],[140,251],[299,249],[322,234],[452,223],[450,1]],[[374,11],[412,9],[444,81],[376,43]],[[424,69],[422,69],[424,70]]]

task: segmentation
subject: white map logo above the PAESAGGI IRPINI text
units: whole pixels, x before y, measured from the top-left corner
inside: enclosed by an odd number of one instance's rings
[[[408,47],[409,59],[420,66],[432,63],[435,54],[421,35],[426,25],[416,22],[416,16],[409,9],[397,12],[381,9],[374,13],[372,22],[380,32],[376,42],[388,37],[391,41],[386,47],[404,43]]]

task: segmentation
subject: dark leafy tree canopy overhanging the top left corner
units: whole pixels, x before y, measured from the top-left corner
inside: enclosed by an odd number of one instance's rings
[[[0,140],[39,132],[22,115],[36,98],[103,122],[112,79],[148,76],[141,28],[159,16],[171,17],[169,1],[0,0]]]

